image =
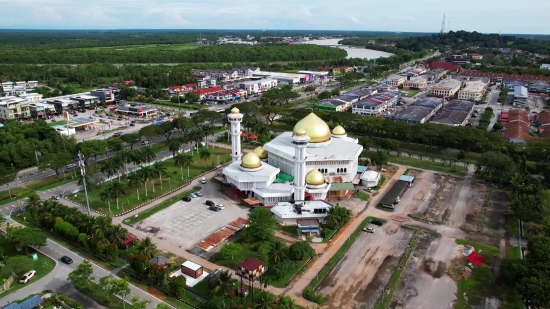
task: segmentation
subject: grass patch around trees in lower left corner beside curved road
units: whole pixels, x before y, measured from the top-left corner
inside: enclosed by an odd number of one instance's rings
[[[25,249],[21,250],[21,251],[17,251],[15,249],[15,246],[10,243],[5,237],[1,236],[0,237],[0,248],[2,248],[4,250],[4,256],[6,258],[9,258],[9,257],[12,257],[12,256],[26,256],[31,265],[32,265],[32,269],[33,270],[36,270],[36,274],[34,275],[34,277],[29,281],[29,283],[27,284],[21,284],[19,283],[19,280],[16,280],[15,283],[12,285],[12,287],[7,290],[7,291],[4,291],[3,293],[0,293],[0,299],[10,293],[13,293],[17,290],[20,290],[24,287],[27,287],[29,284],[32,284],[33,282],[36,282],[37,280],[39,280],[40,278],[46,276],[47,274],[49,274],[54,268],[55,268],[55,261],[50,259],[49,257],[33,250],[33,249],[29,249],[29,254],[27,254],[27,252],[25,251]],[[32,253],[37,253],[38,254],[38,259],[36,261],[33,261],[30,254]],[[31,269],[29,269],[31,270]],[[4,269],[1,269],[0,270],[0,280],[2,282],[4,282],[5,279],[7,279],[9,276],[10,276],[11,272],[8,271],[7,269],[4,271]],[[19,279],[19,276],[21,276],[23,274],[17,274],[17,279]]]

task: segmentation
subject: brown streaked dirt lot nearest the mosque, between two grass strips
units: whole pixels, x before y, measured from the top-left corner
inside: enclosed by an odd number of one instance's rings
[[[315,292],[327,295],[327,308],[373,308],[414,232],[388,222],[362,233]]]

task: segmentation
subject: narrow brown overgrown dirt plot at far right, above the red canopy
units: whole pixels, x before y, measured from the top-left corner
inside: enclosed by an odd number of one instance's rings
[[[493,188],[489,194],[489,204],[486,210],[483,232],[503,237],[505,233],[504,213],[507,208],[508,193]]]

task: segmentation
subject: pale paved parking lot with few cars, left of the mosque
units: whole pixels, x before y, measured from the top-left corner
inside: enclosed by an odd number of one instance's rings
[[[231,221],[239,217],[248,217],[249,209],[238,206],[235,201],[223,196],[218,191],[217,184],[208,180],[201,186],[202,197],[196,197],[191,202],[177,201],[174,205],[136,224],[136,228],[174,246],[188,249]],[[205,204],[206,200],[223,204],[225,209],[217,212],[210,210]]]

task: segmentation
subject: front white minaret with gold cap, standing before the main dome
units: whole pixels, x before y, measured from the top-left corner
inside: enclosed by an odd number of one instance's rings
[[[294,201],[303,204],[306,193],[306,148],[309,136],[306,130],[298,129],[292,137],[294,144]]]

